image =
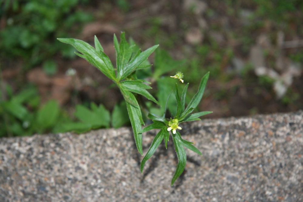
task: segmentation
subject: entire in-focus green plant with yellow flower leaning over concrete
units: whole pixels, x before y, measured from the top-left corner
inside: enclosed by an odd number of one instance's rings
[[[116,68],[113,67],[110,59],[108,56],[104,53],[103,48],[98,41],[97,37],[95,36],[95,48],[93,48],[91,45],[86,43],[85,41],[74,39],[74,38],[58,38],[59,41],[63,43],[70,44],[74,46],[80,53],[76,53],[78,56],[86,59],[89,63],[94,65],[96,68],[98,68],[104,75],[106,75],[108,78],[110,78],[120,89],[126,103],[126,108],[128,111],[129,120],[132,125],[132,129],[134,132],[135,142],[137,149],[140,154],[143,155],[142,151],[142,133],[149,131],[151,129],[161,129],[160,132],[155,136],[154,140],[151,143],[151,146],[143,158],[141,162],[141,172],[143,171],[143,167],[145,165],[145,162],[154,154],[156,148],[161,143],[162,139],[165,141],[165,147],[167,148],[167,141],[169,139],[169,131],[172,132],[172,138],[174,141],[175,149],[177,152],[177,156],[179,158],[179,162],[177,165],[176,172],[171,180],[171,185],[174,184],[175,180],[182,174],[185,168],[186,163],[186,153],[184,150],[184,147],[187,147],[191,149],[192,151],[200,154],[201,152],[194,147],[192,142],[183,140],[181,138],[181,135],[179,131],[181,130],[180,124],[185,121],[196,121],[200,120],[199,117],[211,113],[210,111],[204,111],[204,112],[198,112],[191,114],[191,112],[197,107],[199,104],[202,95],[205,90],[206,82],[209,77],[209,72],[201,79],[201,83],[198,89],[198,92],[194,95],[194,97],[191,99],[187,107],[185,108],[185,97],[186,92],[188,88],[188,84],[185,85],[181,98],[179,96],[178,92],[178,85],[175,84],[175,98],[176,98],[176,114],[173,118],[170,118],[169,120],[165,119],[165,112],[167,103],[169,100],[170,95],[167,98],[165,108],[164,108],[164,114],[162,117],[155,116],[154,114],[149,113],[148,118],[152,119],[153,123],[144,129],[142,129],[142,125],[144,125],[144,121],[142,118],[142,112],[141,108],[142,106],[139,105],[140,102],[138,102],[137,94],[140,94],[144,96],[145,98],[153,101],[154,103],[159,104],[159,102],[146,90],[151,89],[150,86],[148,86],[146,83],[149,83],[148,81],[139,79],[137,77],[137,72],[140,69],[145,69],[150,67],[151,65],[146,62],[149,55],[151,55],[152,52],[156,50],[158,45],[154,45],[151,48],[148,48],[145,51],[141,51],[137,48],[136,45],[130,45],[125,39],[125,33],[122,33],[120,35],[120,43],[118,42],[118,39],[116,35],[114,35],[114,46],[116,51]],[[177,72],[176,75],[171,76],[173,78],[177,78],[182,83],[183,81],[183,74],[181,72]],[[158,76],[157,76],[158,78]],[[172,91],[171,91],[172,92]],[[135,94],[134,94],[135,93]],[[94,107],[96,111],[98,108],[97,106]],[[99,107],[100,108],[100,107]],[[117,106],[113,114],[119,114],[118,110],[122,109],[122,105]],[[101,110],[101,109],[100,109]],[[104,111],[104,109],[102,109]],[[77,109],[78,111],[78,109]],[[102,115],[102,113],[96,113],[96,112],[90,112],[88,110],[82,110],[85,111],[86,114],[95,114],[95,117],[97,120],[92,120],[96,125],[98,125],[98,117]],[[98,115],[99,114],[99,115]],[[104,114],[104,113],[103,113]],[[80,114],[78,114],[80,115]],[[82,113],[83,115],[83,113]],[[89,124],[90,121],[85,121],[85,116],[82,116],[79,118],[82,122]],[[91,116],[90,115],[90,116]],[[109,115],[108,115],[109,116]],[[116,115],[115,115],[116,116]],[[91,119],[91,117],[87,117],[88,119]],[[100,118],[101,119],[101,118]],[[102,122],[102,121],[101,121]],[[112,123],[115,123],[113,121]],[[108,124],[109,124],[109,118],[108,118]],[[123,123],[115,123],[115,125],[122,125]],[[114,125],[114,124],[113,124]]]

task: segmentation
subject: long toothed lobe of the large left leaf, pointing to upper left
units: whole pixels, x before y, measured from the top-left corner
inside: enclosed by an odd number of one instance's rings
[[[95,38],[95,44],[97,44],[98,51],[85,41],[75,38],[57,38],[59,41],[74,46],[77,51],[82,54],[76,53],[78,56],[84,58],[89,63],[97,67],[104,75],[108,78],[116,81],[116,74],[112,62],[108,56],[102,51],[102,46],[96,42],[98,39]]]

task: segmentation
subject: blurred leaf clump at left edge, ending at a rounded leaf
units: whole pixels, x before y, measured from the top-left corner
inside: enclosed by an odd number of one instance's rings
[[[62,116],[59,105],[52,100],[41,107],[39,104],[40,97],[35,87],[27,87],[13,95],[7,85],[0,97],[0,137],[52,131]]]

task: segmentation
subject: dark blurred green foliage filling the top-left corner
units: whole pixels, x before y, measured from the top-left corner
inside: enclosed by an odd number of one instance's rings
[[[56,38],[69,36],[71,31],[79,31],[79,25],[92,20],[92,15],[79,8],[87,3],[88,0],[0,0],[0,17],[5,19],[0,31],[0,59],[21,57],[26,67],[31,67],[58,51],[66,57],[74,56],[74,49]]]

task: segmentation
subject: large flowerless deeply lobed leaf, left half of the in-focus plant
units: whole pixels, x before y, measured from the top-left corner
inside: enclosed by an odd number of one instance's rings
[[[132,128],[134,131],[136,146],[138,151],[142,154],[142,134],[141,131],[141,124],[144,125],[144,121],[142,119],[142,113],[138,105],[138,101],[136,100],[133,93],[138,93],[151,101],[159,104],[158,101],[145,89],[150,89],[148,85],[142,83],[142,81],[135,80],[135,81],[122,81],[126,77],[130,76],[131,74],[135,75],[135,71],[137,69],[146,68],[150,65],[148,63],[144,63],[147,61],[147,58],[158,45],[155,45],[147,50],[141,52],[137,46],[132,43],[129,45],[125,39],[125,33],[122,33],[120,36],[121,40],[120,43],[116,35],[114,35],[114,47],[116,50],[116,63],[117,63],[117,74],[115,69],[108,58],[108,56],[104,53],[104,50],[98,41],[97,37],[95,36],[95,48],[93,48],[88,43],[74,39],[74,38],[58,38],[59,41],[63,43],[70,44],[74,46],[80,53],[75,53],[79,57],[84,58],[89,63],[97,67],[103,74],[105,74],[108,78],[112,79],[119,87],[125,101],[126,101],[126,108],[128,111],[128,115],[130,117],[130,121],[132,124]],[[135,76],[132,77],[137,79]],[[122,81],[122,82],[121,82]],[[89,122],[95,124],[95,121],[89,119]],[[114,122],[116,123],[116,122]],[[121,124],[122,122],[118,122],[117,125]],[[93,125],[92,124],[92,128]],[[83,125],[80,128],[86,127]]]

